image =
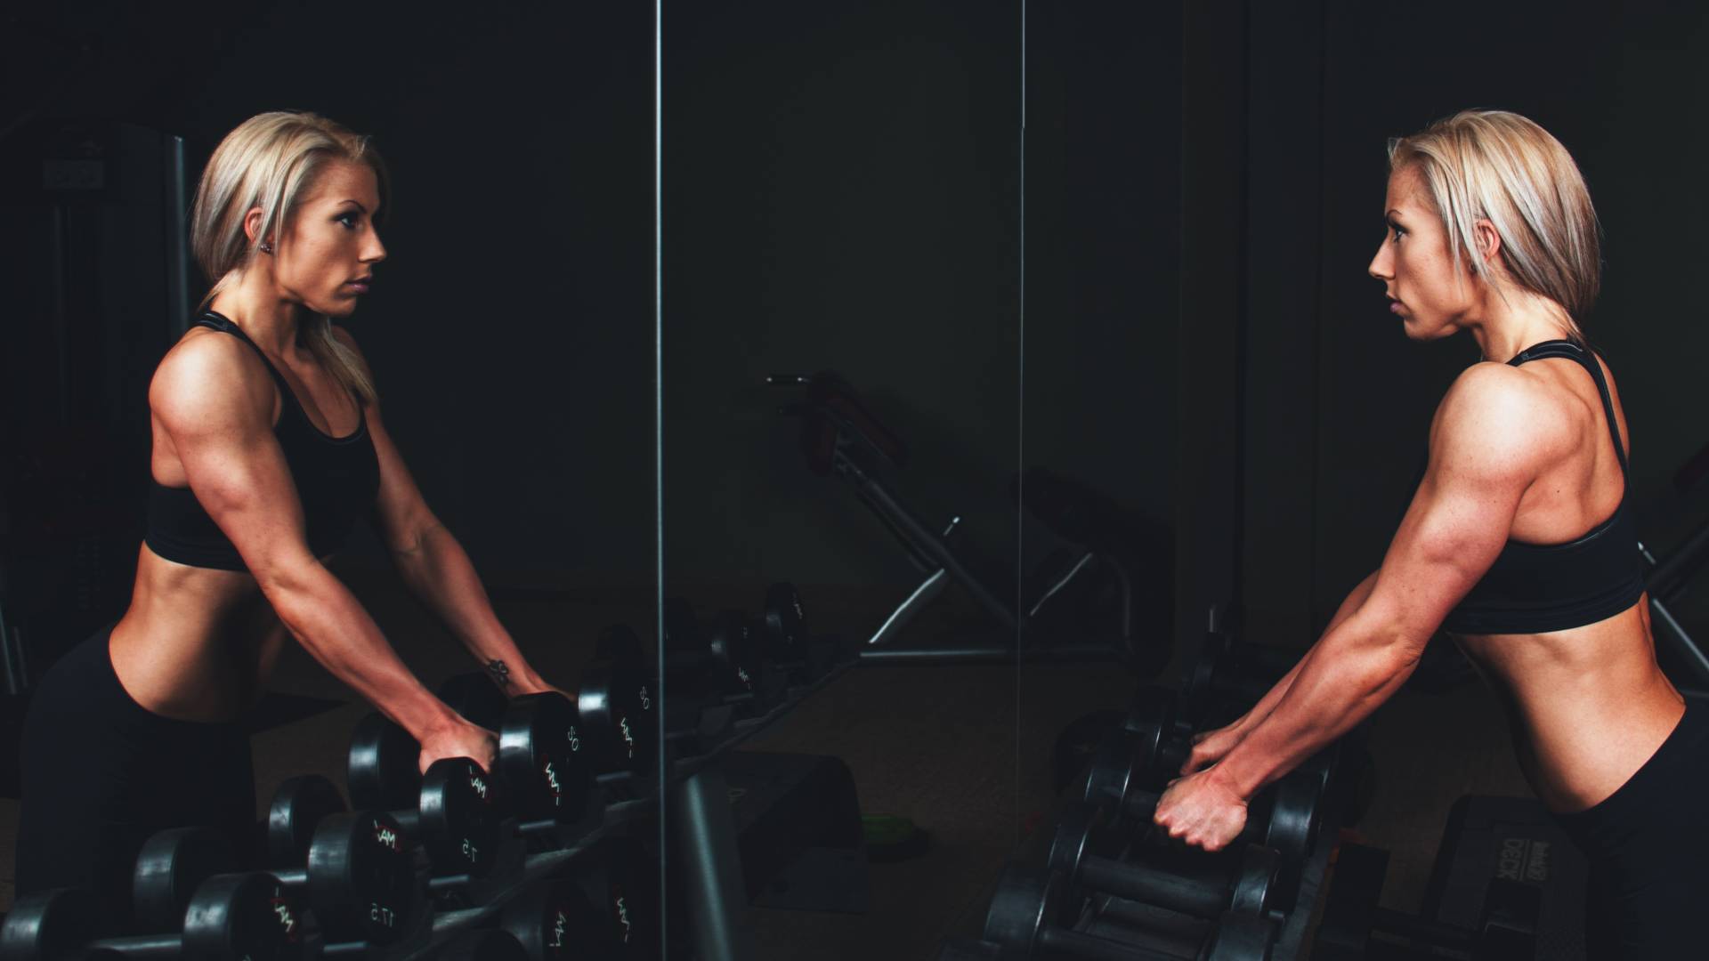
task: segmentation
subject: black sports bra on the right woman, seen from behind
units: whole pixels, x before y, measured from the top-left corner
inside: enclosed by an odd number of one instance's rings
[[[1577,361],[1601,393],[1608,434],[1620,458],[1620,475],[1630,489],[1625,445],[1613,414],[1613,397],[1596,357],[1571,340],[1545,340],[1507,361],[1519,366],[1542,357]],[[1594,624],[1634,604],[1644,593],[1644,568],[1637,530],[1625,510],[1625,491],[1613,515],[1589,534],[1565,544],[1507,540],[1501,556],[1454,607],[1442,629],[1456,634],[1540,634]]]

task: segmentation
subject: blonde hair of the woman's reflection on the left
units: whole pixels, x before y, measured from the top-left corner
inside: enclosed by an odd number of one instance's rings
[[[385,161],[369,144],[347,128],[301,111],[270,111],[244,120],[220,140],[202,171],[197,200],[190,209],[190,250],[214,284],[202,308],[243,275],[260,243],[289,226],[306,192],[326,164],[364,162],[379,185],[381,210],[388,207],[390,178]],[[243,231],[250,210],[261,209],[261,227],[251,241]],[[378,398],[374,381],[362,369],[355,351],[332,333],[332,318],[309,315],[299,339],[326,371],[361,404]]]

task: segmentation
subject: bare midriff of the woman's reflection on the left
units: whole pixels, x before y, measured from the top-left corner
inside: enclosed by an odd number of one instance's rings
[[[120,684],[149,711],[227,722],[260,699],[284,640],[253,576],[178,564],[144,545],[109,653]]]

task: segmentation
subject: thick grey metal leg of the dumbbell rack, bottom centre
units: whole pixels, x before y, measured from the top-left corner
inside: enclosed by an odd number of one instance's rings
[[[754,958],[754,946],[737,923],[747,891],[742,884],[742,853],[737,850],[737,824],[730,812],[725,773],[716,764],[706,766],[670,793],[680,841],[672,867],[684,877],[696,958]]]

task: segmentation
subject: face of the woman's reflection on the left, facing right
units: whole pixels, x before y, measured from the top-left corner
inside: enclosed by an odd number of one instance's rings
[[[282,243],[273,245],[273,277],[285,298],[314,313],[350,316],[374,265],[386,258],[374,227],[378,212],[373,168],[328,164],[297,205]]]

